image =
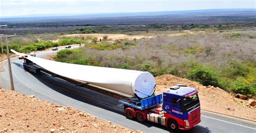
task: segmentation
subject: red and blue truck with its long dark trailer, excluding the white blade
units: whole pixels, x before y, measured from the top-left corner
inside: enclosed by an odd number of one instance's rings
[[[200,101],[196,88],[178,84],[166,89],[163,94],[153,94],[143,99],[136,96],[124,97],[124,95],[104,90],[80,80],[56,75],[27,58],[22,57],[21,59],[24,60],[23,68],[26,71],[35,73],[43,71],[54,77],[76,84],[77,87],[86,87],[118,99],[118,102],[124,108],[124,115],[127,119],[137,119],[138,122],[154,122],[172,131],[190,130],[201,122]]]

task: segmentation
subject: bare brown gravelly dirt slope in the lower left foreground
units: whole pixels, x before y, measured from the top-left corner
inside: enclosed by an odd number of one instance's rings
[[[0,88],[0,132],[142,132]]]

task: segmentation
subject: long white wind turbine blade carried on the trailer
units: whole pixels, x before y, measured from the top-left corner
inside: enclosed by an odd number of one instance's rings
[[[15,50],[11,51],[19,56],[25,56]],[[62,63],[29,55],[25,58],[57,75],[129,95],[136,94],[139,98],[146,98],[154,93],[156,80],[149,72]]]

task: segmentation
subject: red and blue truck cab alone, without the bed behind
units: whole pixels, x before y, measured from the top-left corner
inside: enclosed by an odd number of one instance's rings
[[[163,94],[166,127],[189,130],[200,123],[200,102],[196,88],[172,86]]]

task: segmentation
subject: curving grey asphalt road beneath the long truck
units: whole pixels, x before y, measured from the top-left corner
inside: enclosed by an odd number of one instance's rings
[[[38,53],[38,57],[54,53],[45,51]],[[126,119],[123,108],[117,99],[91,91],[48,75],[47,73],[29,73],[23,70],[23,60],[11,60],[15,90],[26,95],[35,95],[38,99],[54,102],[83,110],[99,117],[123,125],[124,127],[146,132],[169,132],[162,125],[152,122],[138,123]],[[0,72],[0,87],[10,88],[8,65],[3,63],[5,71]],[[199,95],[200,97],[200,95]],[[255,114],[252,114],[255,115]],[[256,132],[256,124],[223,115],[201,111],[201,123],[183,132]]]

